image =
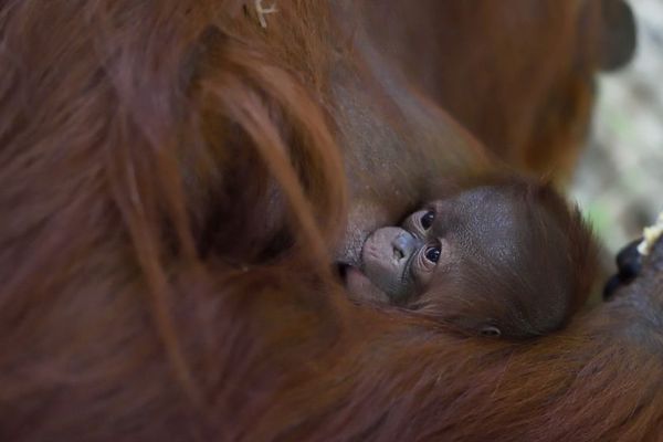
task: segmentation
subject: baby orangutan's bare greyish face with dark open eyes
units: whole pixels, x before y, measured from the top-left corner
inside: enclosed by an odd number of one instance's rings
[[[423,293],[434,275],[462,271],[464,257],[512,264],[519,257],[520,229],[512,209],[511,197],[480,187],[425,206],[401,227],[376,230],[362,248],[361,272],[347,275],[350,292],[403,305]],[[435,284],[440,280],[435,276]]]

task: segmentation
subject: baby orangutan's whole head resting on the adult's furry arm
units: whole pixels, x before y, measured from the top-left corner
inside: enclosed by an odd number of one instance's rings
[[[549,186],[501,178],[462,189],[376,230],[348,269],[350,296],[417,311],[461,332],[528,338],[585,303],[597,246],[577,208]]]

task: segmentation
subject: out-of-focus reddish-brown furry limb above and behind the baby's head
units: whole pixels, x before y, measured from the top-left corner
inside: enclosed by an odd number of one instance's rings
[[[591,110],[601,9],[620,1],[386,0],[361,11],[371,42],[491,150],[522,170],[568,173]],[[628,23],[606,25],[619,34]]]

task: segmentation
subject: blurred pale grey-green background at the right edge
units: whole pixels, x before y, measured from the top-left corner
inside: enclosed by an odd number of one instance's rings
[[[609,251],[663,210],[663,0],[631,0],[638,50],[599,80],[592,135],[571,194]]]

